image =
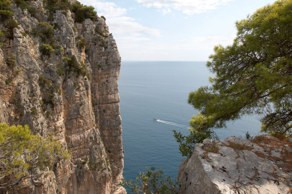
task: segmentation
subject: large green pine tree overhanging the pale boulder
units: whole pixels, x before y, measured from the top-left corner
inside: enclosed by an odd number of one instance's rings
[[[206,64],[215,74],[209,79],[211,87],[189,95],[188,103],[200,111],[190,120],[191,132],[205,133],[256,114],[262,131],[291,137],[292,1],[260,8],[236,27],[233,44],[215,46]],[[178,141],[181,146],[187,143],[184,138]]]

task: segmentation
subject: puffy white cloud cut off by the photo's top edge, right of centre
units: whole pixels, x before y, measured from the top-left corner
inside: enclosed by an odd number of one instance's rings
[[[217,6],[226,4],[232,0],[135,0],[143,6],[154,7],[158,10],[175,9],[187,15],[203,13],[216,9]]]

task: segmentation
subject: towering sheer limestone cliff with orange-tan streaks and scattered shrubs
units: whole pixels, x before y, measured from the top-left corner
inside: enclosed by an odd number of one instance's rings
[[[74,1],[71,1],[73,3]],[[0,122],[53,134],[72,158],[39,172],[11,193],[126,193],[118,78],[121,58],[103,18],[74,22],[74,13],[27,1],[32,17],[12,1],[20,25],[0,49]],[[53,26],[47,36],[46,24]],[[6,29],[0,24],[0,30]],[[54,50],[46,50],[46,45]]]

